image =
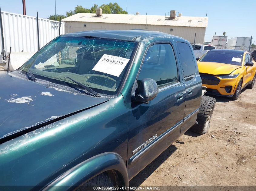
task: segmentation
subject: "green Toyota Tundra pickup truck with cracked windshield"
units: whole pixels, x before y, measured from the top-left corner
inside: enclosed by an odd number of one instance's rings
[[[190,43],[156,31],[61,35],[0,79],[1,190],[127,190],[215,105]]]

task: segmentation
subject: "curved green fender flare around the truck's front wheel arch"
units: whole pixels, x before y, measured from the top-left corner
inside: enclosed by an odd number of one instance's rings
[[[73,190],[107,170],[118,172],[121,175],[121,177],[118,177],[119,180],[122,179],[120,186],[128,186],[128,173],[125,162],[119,154],[106,152],[77,164],[50,183],[43,191]]]

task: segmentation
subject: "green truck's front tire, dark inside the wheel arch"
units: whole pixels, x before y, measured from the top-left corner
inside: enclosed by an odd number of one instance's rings
[[[115,186],[114,182],[111,180],[111,177],[107,172],[101,173],[98,176],[92,178],[91,180],[83,183],[75,191],[92,191],[95,190],[95,186]],[[110,191],[105,189],[105,191]]]

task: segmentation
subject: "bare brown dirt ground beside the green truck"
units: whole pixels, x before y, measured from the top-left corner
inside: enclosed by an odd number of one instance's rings
[[[186,132],[129,186],[256,186],[255,94],[256,85],[238,100],[215,97],[209,131]]]

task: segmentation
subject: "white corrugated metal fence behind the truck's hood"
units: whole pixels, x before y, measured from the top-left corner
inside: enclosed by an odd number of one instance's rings
[[[38,34],[37,18],[22,14],[2,11],[4,46],[6,53],[12,46],[12,52],[37,52]],[[38,18],[39,47],[42,48],[49,41],[59,35],[59,22]],[[64,22],[61,22],[60,34],[65,33]],[[0,38],[2,52],[2,38]],[[1,56],[2,57],[2,56]]]

